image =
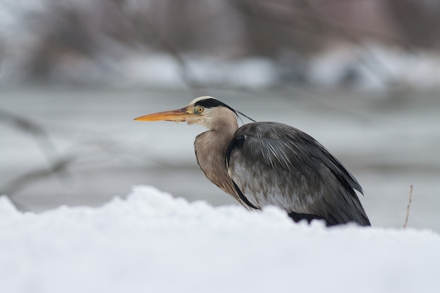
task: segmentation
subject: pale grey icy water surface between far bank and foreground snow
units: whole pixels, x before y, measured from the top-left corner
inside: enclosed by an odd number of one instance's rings
[[[198,169],[193,140],[204,129],[133,121],[203,95],[320,141],[358,178],[374,226],[403,226],[412,184],[408,226],[440,231],[439,93],[5,88],[0,193],[32,211],[96,206],[141,184],[191,201],[235,204]]]

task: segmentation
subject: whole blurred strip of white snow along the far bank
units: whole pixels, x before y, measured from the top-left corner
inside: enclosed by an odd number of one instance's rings
[[[413,53],[377,44],[329,48],[309,60],[302,60],[305,66],[297,60],[277,63],[257,57],[225,60],[185,54],[181,56],[185,61],[182,66],[179,60],[164,53],[124,50],[122,59],[101,58],[101,62],[105,60],[107,72],[102,71],[101,63],[88,60],[79,64],[76,71],[68,64],[58,68],[59,72],[53,75],[82,82],[101,78],[101,82],[113,86],[143,85],[164,89],[184,88],[188,80],[205,86],[254,90],[295,85],[297,81],[288,77],[289,74],[283,78],[283,74],[286,75],[283,71],[302,72],[310,86],[336,89],[350,86],[363,91],[387,91],[396,86],[438,91],[440,82],[439,53]],[[100,74],[101,77],[96,77]]]

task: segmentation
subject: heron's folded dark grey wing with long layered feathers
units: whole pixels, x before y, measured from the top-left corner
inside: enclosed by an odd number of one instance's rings
[[[271,204],[292,219],[324,219],[329,226],[370,221],[356,195],[358,181],[311,136],[274,122],[246,124],[226,152],[228,175],[250,207]]]

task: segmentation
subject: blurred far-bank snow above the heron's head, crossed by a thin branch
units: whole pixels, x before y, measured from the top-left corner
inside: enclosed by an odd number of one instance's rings
[[[128,86],[142,84],[153,87],[184,87],[185,78],[198,84],[211,86],[266,89],[277,82],[276,66],[265,58],[224,60],[207,56],[185,56],[186,68],[172,56],[162,53],[136,52],[128,54],[122,62],[110,62],[117,79]],[[121,68],[123,68],[121,70]]]

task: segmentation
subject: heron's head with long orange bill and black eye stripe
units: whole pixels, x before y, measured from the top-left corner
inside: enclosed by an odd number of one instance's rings
[[[238,127],[236,111],[216,98],[202,96],[195,98],[184,108],[157,112],[135,118],[136,121],[172,121],[200,124],[208,129],[232,124]]]

